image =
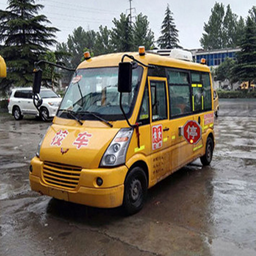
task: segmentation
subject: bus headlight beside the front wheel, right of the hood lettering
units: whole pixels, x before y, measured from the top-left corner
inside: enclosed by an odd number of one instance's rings
[[[122,128],[106,149],[100,166],[117,166],[125,163],[125,157],[133,135],[132,128]]]

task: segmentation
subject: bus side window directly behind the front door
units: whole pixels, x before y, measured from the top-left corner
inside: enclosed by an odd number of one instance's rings
[[[169,84],[170,116],[176,117],[191,112],[188,73],[167,69]]]

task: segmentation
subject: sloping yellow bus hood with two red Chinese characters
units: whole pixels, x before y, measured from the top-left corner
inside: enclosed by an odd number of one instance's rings
[[[52,124],[40,148],[40,160],[98,168],[119,128]]]

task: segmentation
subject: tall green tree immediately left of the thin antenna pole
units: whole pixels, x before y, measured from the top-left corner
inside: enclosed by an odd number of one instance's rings
[[[120,14],[120,19],[114,18],[114,28],[111,33],[111,41],[115,52],[129,52],[133,50],[133,33],[129,16]]]

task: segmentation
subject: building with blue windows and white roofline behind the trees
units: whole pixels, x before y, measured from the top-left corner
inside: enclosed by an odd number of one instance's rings
[[[206,59],[207,66],[219,66],[225,58],[236,59],[236,53],[241,49],[237,48],[225,48],[225,49],[217,49],[217,50],[208,50],[205,51],[203,49],[190,50],[193,54],[194,60],[200,63],[201,58]]]

